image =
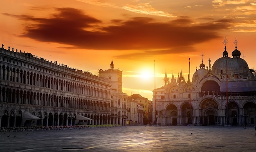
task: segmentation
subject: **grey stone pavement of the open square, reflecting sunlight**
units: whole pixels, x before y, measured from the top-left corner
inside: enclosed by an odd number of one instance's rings
[[[254,127],[241,126],[121,126],[0,132],[0,151],[255,152],[255,132]]]

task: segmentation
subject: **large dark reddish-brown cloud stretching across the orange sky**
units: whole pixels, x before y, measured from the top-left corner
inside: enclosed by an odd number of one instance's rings
[[[104,26],[101,20],[85,15],[74,8],[56,8],[49,18],[29,15],[9,15],[30,22],[22,37],[41,42],[69,44],[74,48],[94,50],[162,50],[142,51],[142,54],[168,54],[186,52],[193,44],[216,39],[218,32],[230,27],[231,20],[212,20],[193,24],[188,17],[169,22],[157,22],[153,18],[136,17],[129,20],[111,20]],[[190,49],[192,50],[192,49]],[[132,54],[131,54],[132,55]],[[139,54],[138,54],[139,55]]]

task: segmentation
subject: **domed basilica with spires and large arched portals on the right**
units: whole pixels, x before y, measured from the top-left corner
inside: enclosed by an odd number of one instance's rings
[[[235,49],[229,57],[222,57],[211,66],[202,63],[188,81],[180,72],[177,79],[165,74],[164,85],[153,90],[153,121],[163,126],[230,126],[256,123],[256,77],[247,62]],[[221,56],[221,54],[220,54]],[[190,61],[189,61],[190,64]],[[190,69],[190,67],[189,67]]]

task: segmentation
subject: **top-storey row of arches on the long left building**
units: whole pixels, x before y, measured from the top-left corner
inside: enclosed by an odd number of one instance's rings
[[[0,79],[82,95],[91,95],[102,98],[109,98],[110,96],[108,88],[97,88],[95,86],[90,86],[90,84],[85,84],[84,82],[78,83],[72,82],[72,80],[58,79],[53,75],[49,76],[47,74],[12,68],[1,64]]]

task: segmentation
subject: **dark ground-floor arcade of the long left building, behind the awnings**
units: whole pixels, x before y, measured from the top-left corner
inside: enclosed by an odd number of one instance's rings
[[[67,113],[67,112],[31,112],[31,115],[39,117],[38,120],[22,120],[22,111],[3,110],[0,115],[1,127],[21,127],[21,126],[73,126],[73,125],[105,125],[125,123],[121,117],[111,118],[106,114],[90,113]],[[81,115],[92,120],[76,120],[76,116]]]

